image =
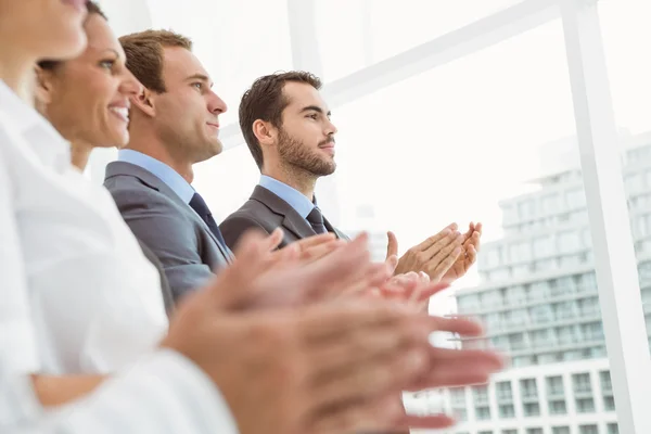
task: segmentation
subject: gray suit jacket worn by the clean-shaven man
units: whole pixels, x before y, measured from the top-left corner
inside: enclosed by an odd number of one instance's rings
[[[163,264],[175,301],[229,264],[230,251],[220,247],[204,220],[149,170],[113,162],[104,186],[136,238]]]

